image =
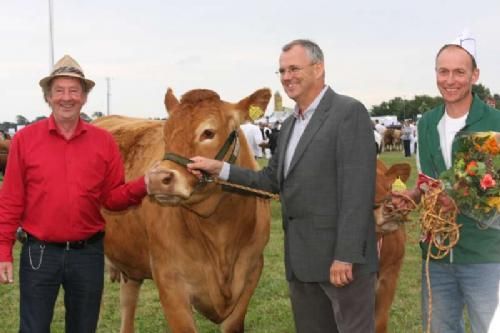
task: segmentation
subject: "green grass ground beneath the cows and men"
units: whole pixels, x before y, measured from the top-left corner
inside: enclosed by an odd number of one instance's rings
[[[409,162],[412,165],[412,177],[408,185],[415,182],[414,158],[404,158],[401,152],[383,153],[381,159],[388,165]],[[279,203],[272,203],[271,238],[265,249],[264,271],[259,286],[252,297],[246,317],[246,331],[255,333],[294,332],[293,320],[288,299],[287,284],[283,266],[283,231]],[[415,220],[415,218],[413,219]],[[421,332],[420,328],[420,250],[417,244],[417,227],[414,222],[407,227],[408,241],[406,257],[400,276],[396,300],[393,304],[390,320],[390,332]],[[19,246],[16,245],[15,283],[0,286],[0,333],[18,331],[19,293],[17,279],[17,258]],[[106,278],[101,318],[98,332],[118,332],[120,327],[118,284],[111,284]],[[61,292],[62,294],[62,292]],[[137,311],[136,332],[170,332],[161,311],[158,293],[151,281],[142,287],[140,304]],[[219,332],[216,325],[201,316],[196,316],[200,332]],[[52,332],[64,332],[64,309],[60,295]]]

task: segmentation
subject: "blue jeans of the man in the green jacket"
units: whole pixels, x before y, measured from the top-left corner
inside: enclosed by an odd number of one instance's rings
[[[467,308],[472,333],[500,332],[490,327],[499,316],[500,264],[445,264],[430,262],[433,333],[464,333]],[[422,265],[422,318],[427,327],[428,294],[425,261]],[[497,312],[495,314],[495,311]],[[498,319],[498,318],[497,318]],[[498,320],[495,319],[495,322]]]

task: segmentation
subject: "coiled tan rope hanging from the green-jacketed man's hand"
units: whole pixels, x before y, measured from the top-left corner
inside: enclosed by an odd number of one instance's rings
[[[429,273],[430,258],[442,259],[450,250],[458,243],[460,238],[460,227],[457,224],[458,208],[454,208],[449,212],[443,212],[439,208],[438,198],[443,192],[442,186],[430,186],[424,192],[420,207],[420,226],[423,235],[426,235],[426,241],[429,242],[427,248],[427,257],[425,259],[425,279],[427,283],[428,308],[427,308],[427,333],[431,332],[432,320],[432,289],[431,278]],[[438,252],[432,253],[431,249],[434,246]]]

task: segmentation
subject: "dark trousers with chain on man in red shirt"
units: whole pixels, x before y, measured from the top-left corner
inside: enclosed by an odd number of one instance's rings
[[[20,333],[49,333],[59,288],[67,333],[94,333],[104,285],[102,239],[81,249],[28,240],[19,267]]]

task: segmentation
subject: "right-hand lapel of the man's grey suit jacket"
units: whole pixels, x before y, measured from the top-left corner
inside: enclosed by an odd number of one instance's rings
[[[292,161],[290,162],[288,173],[290,173],[293,170],[299,159],[304,154],[304,151],[306,150],[307,146],[309,145],[309,143],[311,143],[311,140],[316,134],[316,132],[318,132],[321,125],[324,124],[324,120],[328,115],[327,111],[330,109],[334,95],[335,93],[333,92],[333,90],[331,90],[331,88],[328,88],[327,91],[325,92],[325,95],[321,99],[321,102],[314,111],[311,120],[307,124],[304,133],[302,133],[302,136],[300,137],[300,140],[297,143],[297,148],[295,148],[295,153],[293,154]]]

